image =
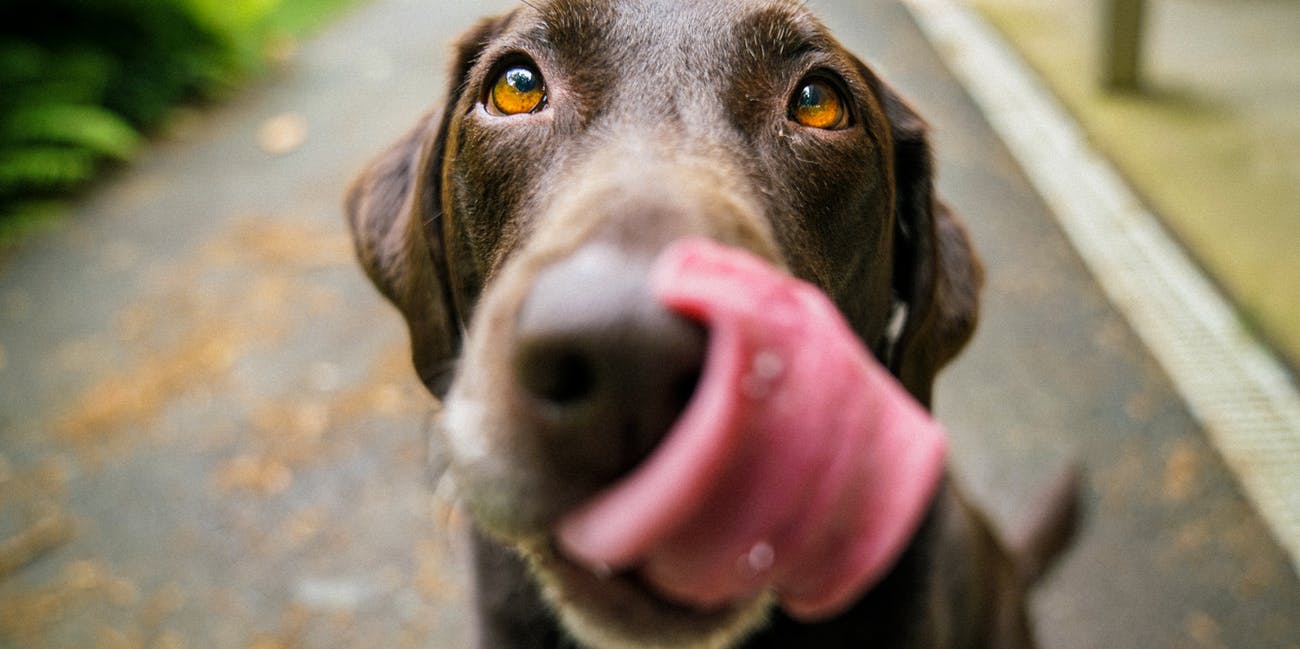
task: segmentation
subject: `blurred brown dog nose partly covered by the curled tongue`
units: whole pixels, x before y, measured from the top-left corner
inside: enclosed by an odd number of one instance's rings
[[[653,299],[649,264],[580,250],[537,276],[516,323],[523,415],[552,470],[592,488],[645,459],[703,364],[705,329]]]

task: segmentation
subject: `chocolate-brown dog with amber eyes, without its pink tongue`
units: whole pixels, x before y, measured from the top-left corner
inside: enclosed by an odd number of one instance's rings
[[[474,522],[482,648],[1027,648],[1027,585],[1065,545],[1065,479],[1000,542],[945,484],[844,614],[694,610],[552,548],[556,519],[644,459],[706,334],[656,306],[682,237],[829,295],[930,402],[970,338],[979,264],[933,195],[923,121],[796,0],[536,0],[458,47],[442,109],[352,186],[363,265],[445,397]]]

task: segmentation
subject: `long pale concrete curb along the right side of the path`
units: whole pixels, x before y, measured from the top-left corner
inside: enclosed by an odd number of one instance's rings
[[[904,0],[1169,373],[1300,575],[1300,393],[1278,359],[979,16]]]

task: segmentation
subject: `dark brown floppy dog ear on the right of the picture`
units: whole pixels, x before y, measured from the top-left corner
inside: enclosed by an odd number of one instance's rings
[[[984,271],[966,228],[935,196],[926,122],[881,87],[893,137],[894,295],[906,306],[889,368],[930,406],[935,376],[975,332]]]

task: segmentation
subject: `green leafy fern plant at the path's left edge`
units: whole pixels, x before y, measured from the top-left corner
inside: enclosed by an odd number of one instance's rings
[[[130,160],[177,103],[231,87],[277,3],[0,3],[0,228]]]

